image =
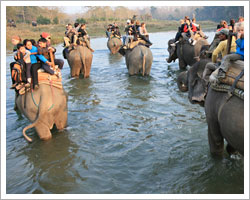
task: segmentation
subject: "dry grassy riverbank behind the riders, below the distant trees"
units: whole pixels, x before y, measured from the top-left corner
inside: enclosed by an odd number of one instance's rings
[[[90,37],[106,37],[105,30],[109,23],[112,22],[94,22],[87,24],[87,31]],[[212,21],[201,21],[200,23],[203,30],[214,29],[217,23]],[[123,21],[117,22],[120,27],[121,34],[124,34],[125,23]],[[179,22],[178,21],[149,21],[146,22],[147,30],[149,33],[164,32],[164,31],[177,31]],[[48,32],[51,34],[52,44],[63,43],[64,32],[66,28],[64,24],[58,25],[38,25],[33,27],[31,24],[17,24],[16,28],[6,28],[6,49],[12,50],[11,37],[13,35],[19,35],[22,39],[34,39],[38,40],[42,32]]]

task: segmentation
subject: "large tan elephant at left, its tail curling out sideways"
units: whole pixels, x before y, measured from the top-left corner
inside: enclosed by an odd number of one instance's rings
[[[25,139],[32,142],[26,131],[33,127],[41,140],[52,138],[50,130],[54,124],[58,130],[64,129],[68,118],[67,101],[67,93],[63,89],[47,84],[39,84],[37,90],[26,91],[23,95],[16,94],[18,111],[32,122],[23,129]]]

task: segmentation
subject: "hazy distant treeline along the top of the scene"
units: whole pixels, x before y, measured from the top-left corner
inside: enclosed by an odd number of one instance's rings
[[[7,20],[14,20],[16,23],[38,24],[66,24],[68,22],[95,22],[95,21],[121,21],[136,16],[139,20],[179,20],[188,15],[196,17],[197,21],[220,20],[229,21],[244,16],[243,6],[162,6],[142,7],[129,9],[118,6],[89,6],[84,7],[85,12],[68,15],[60,7],[39,7],[39,6],[8,6],[6,7]],[[39,13],[39,15],[38,15]]]

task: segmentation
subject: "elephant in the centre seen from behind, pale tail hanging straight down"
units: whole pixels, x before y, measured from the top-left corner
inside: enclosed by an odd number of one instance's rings
[[[125,56],[129,75],[149,75],[153,62],[151,50],[144,45],[137,45],[133,49],[120,49],[119,53]]]

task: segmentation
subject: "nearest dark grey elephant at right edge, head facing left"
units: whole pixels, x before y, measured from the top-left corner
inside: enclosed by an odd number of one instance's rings
[[[215,90],[203,79],[208,62],[210,59],[201,59],[188,71],[180,73],[178,87],[181,91],[188,91],[191,103],[205,107],[211,154],[223,154],[225,139],[229,154],[238,151],[244,155],[244,100],[236,95],[230,96],[226,91]],[[240,61],[231,63],[234,64],[244,66]]]

